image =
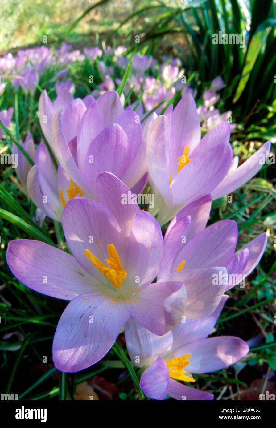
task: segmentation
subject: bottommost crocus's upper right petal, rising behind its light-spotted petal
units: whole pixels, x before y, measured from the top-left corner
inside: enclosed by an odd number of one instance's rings
[[[228,296],[222,296],[222,300],[216,309],[207,317],[201,318],[198,320],[183,320],[172,330],[172,335],[174,338],[173,345],[171,347],[170,356],[168,360],[174,358],[175,351],[182,348],[185,345],[188,345],[192,342],[198,342],[199,340],[206,339],[207,336],[213,330],[213,327],[216,325],[216,322],[219,318],[220,313],[222,312],[223,306],[225,305]]]

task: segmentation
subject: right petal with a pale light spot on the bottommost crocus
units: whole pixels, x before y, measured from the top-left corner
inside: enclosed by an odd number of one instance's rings
[[[179,348],[175,357],[192,354],[189,359],[189,372],[209,373],[237,363],[248,351],[249,347],[242,339],[234,336],[219,336],[189,343]]]

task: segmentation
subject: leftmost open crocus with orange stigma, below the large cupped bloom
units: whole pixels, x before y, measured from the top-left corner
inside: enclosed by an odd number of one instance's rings
[[[74,140],[69,149],[73,151]],[[35,165],[27,176],[27,189],[33,203],[48,217],[61,221],[66,203],[72,198],[83,196],[81,190],[66,174],[62,166],[57,171],[45,144],[41,142],[36,150]]]

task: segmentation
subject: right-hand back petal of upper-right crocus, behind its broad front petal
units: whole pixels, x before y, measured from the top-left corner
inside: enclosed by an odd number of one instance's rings
[[[207,132],[207,134],[204,135],[195,150],[190,152],[191,158],[196,158],[201,153],[217,146],[219,143],[229,143],[230,134],[231,128],[227,120],[214,126],[209,132]]]

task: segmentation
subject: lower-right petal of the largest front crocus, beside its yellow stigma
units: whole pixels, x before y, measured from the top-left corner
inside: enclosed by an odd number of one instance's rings
[[[152,333],[162,336],[168,331],[167,318],[170,315],[166,313],[168,309],[166,299],[180,290],[182,285],[180,281],[156,282],[148,285],[136,294],[137,300],[133,301],[130,314]]]

